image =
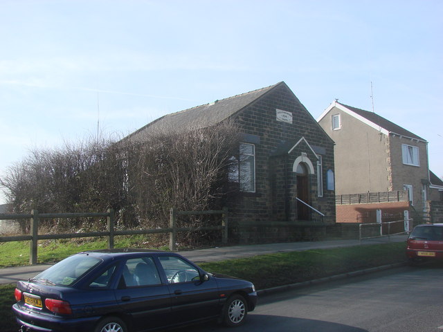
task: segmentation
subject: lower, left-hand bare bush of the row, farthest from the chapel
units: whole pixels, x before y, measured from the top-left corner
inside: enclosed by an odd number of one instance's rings
[[[111,139],[33,149],[21,163],[8,169],[0,185],[6,188],[6,197],[16,213],[33,209],[44,213],[118,208],[125,200],[117,152]],[[58,221],[45,222],[62,228]],[[72,220],[67,228],[79,228],[80,223]]]

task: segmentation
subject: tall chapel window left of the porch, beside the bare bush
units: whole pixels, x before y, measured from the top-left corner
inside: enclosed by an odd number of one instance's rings
[[[239,183],[242,192],[255,192],[255,146],[240,143]]]

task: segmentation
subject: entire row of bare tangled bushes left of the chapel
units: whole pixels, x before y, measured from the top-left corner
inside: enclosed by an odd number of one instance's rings
[[[217,127],[155,129],[143,136],[65,143],[34,149],[0,178],[17,213],[98,212],[113,208],[121,228],[168,227],[170,208],[219,210],[232,156],[238,155],[233,122]],[[208,223],[190,217],[186,226]],[[46,221],[55,230],[58,221]],[[98,228],[71,220],[68,228]],[[191,237],[187,241],[192,241]]]

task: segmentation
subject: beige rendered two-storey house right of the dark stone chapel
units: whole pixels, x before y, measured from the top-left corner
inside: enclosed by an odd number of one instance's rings
[[[374,112],[338,101],[332,102],[317,121],[336,143],[337,195],[406,191],[403,203],[397,202],[399,209],[410,210],[415,218],[429,215],[435,186],[431,185],[428,142],[424,138]],[[340,209],[337,221],[342,219]]]

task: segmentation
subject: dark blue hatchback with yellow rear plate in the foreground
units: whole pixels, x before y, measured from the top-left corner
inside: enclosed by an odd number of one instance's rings
[[[21,331],[138,332],[219,320],[244,323],[251,282],[206,273],[172,252],[80,252],[27,282],[12,311]]]

